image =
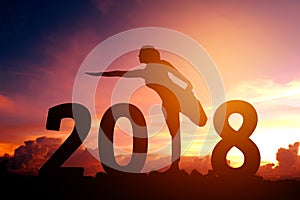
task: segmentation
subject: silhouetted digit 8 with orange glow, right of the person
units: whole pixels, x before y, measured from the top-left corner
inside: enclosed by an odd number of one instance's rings
[[[231,114],[243,116],[243,124],[235,131],[229,124]],[[223,103],[214,115],[214,127],[222,140],[212,152],[212,167],[220,176],[253,176],[260,164],[260,153],[255,143],[249,139],[257,124],[257,113],[254,107],[241,100],[231,100]],[[232,147],[237,147],[244,154],[244,163],[238,168],[230,167],[226,155]]]

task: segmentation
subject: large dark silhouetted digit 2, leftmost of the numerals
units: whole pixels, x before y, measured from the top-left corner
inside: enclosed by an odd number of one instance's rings
[[[66,103],[49,109],[47,117],[47,130],[59,131],[61,120],[72,118],[75,121],[71,135],[54,152],[39,170],[39,175],[53,175],[71,173],[83,175],[82,167],[61,167],[61,165],[76,151],[89,133],[91,126],[90,112],[86,107],[76,103]]]

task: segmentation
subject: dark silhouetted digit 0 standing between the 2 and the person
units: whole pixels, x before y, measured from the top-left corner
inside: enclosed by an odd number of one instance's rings
[[[133,132],[133,152],[130,162],[125,166],[116,162],[113,146],[114,128],[120,117],[130,120]],[[100,160],[106,173],[138,173],[144,167],[148,152],[148,132],[145,118],[136,106],[119,103],[107,109],[100,122],[98,139]]]

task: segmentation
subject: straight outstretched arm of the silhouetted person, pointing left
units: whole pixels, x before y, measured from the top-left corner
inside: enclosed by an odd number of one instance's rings
[[[132,71],[108,71],[108,72],[85,72],[91,76],[107,76],[107,77],[126,77],[126,78],[138,78],[143,77],[142,70]]]

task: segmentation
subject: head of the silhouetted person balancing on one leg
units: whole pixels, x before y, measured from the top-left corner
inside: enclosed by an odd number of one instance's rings
[[[160,61],[160,53],[153,46],[143,46],[140,49],[139,59],[141,63],[157,63]]]

